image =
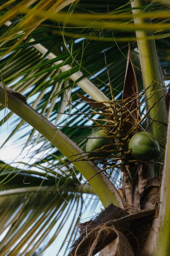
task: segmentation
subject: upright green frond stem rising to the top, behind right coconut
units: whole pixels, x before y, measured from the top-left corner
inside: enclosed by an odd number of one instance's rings
[[[142,0],[133,0],[131,1],[131,6],[133,9],[133,17],[134,17],[134,23],[135,24],[144,24],[145,21],[142,18],[135,18],[137,15],[139,15],[141,9],[138,9],[138,7],[144,6],[144,3]],[[147,22],[150,22],[150,20]],[[153,36],[152,33],[149,34],[150,36]],[[149,87],[149,89],[146,92],[146,98],[148,99],[147,105],[151,107],[159,98],[161,98],[164,95],[164,83],[162,81],[162,74],[161,69],[158,61],[158,56],[156,52],[156,45],[155,41],[153,40],[147,40],[147,39],[140,39],[139,38],[146,38],[148,36],[148,32],[137,30],[136,31],[136,37],[137,37],[137,43],[139,48],[139,55],[140,55],[140,61],[141,61],[141,68],[142,68],[142,76],[143,76],[143,82],[144,82],[144,88],[146,89],[150,84],[153,85]],[[160,83],[160,81],[162,81]],[[157,85],[160,83],[159,88],[155,91]],[[153,94],[152,97],[150,97]],[[158,111],[159,109],[159,111]],[[158,112],[157,112],[158,111]],[[153,135],[156,137],[158,141],[164,140],[167,132],[166,125],[163,125],[164,122],[167,122],[167,112],[165,108],[165,102],[159,101],[150,111],[149,113],[150,119],[148,119],[148,123],[150,123],[150,120],[158,120],[159,122],[153,122],[152,124],[152,132]],[[162,124],[160,123],[162,122]],[[159,160],[164,160],[164,152],[162,151],[161,157]],[[159,170],[155,170],[152,176],[159,176]]]

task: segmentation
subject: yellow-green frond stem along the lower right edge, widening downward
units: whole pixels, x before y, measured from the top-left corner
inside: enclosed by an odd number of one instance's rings
[[[140,256],[170,255],[170,115],[167,128],[167,145],[161,181],[159,217],[153,221],[147,243]]]

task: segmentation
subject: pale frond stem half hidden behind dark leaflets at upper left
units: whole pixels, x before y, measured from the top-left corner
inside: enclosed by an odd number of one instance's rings
[[[5,24],[6,24],[6,26],[10,26],[11,22],[8,21]],[[34,41],[35,41],[34,38],[31,38],[31,40],[29,42],[34,42]],[[48,49],[46,49],[44,46],[42,46],[42,44],[34,44],[34,48],[36,48],[39,52],[41,52],[44,55],[48,52]],[[54,53],[50,52],[47,55],[47,58],[49,60],[51,60],[51,59],[57,58],[57,56],[54,55]],[[57,65],[60,63],[63,63],[63,66],[59,67],[59,69],[62,70],[63,72],[71,69],[71,66],[69,66],[68,64],[65,65],[64,62],[61,60],[55,62],[54,64]],[[78,72],[74,73],[73,75],[71,75],[70,78],[72,81],[76,81],[81,76],[83,76],[83,73],[81,71],[78,71]],[[79,87],[82,88],[82,90],[85,91],[85,93],[88,93],[88,95],[91,96],[92,99],[95,99],[97,101],[108,101],[108,97],[105,96],[105,94],[101,90],[99,90],[89,79],[85,78],[85,79],[79,81],[77,84],[79,85]]]

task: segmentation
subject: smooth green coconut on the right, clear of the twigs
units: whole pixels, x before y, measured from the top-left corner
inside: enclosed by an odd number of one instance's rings
[[[129,141],[131,154],[139,160],[152,160],[160,156],[161,150],[156,137],[153,134],[141,131],[133,135]]]

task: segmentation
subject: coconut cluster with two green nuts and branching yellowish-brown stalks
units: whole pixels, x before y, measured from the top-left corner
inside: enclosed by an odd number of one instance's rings
[[[91,119],[97,128],[88,137],[86,145],[88,160],[110,159],[109,162],[113,164],[120,160],[118,167],[124,169],[131,163],[153,160],[160,156],[161,150],[156,137],[147,132],[146,127],[145,129],[142,127],[153,106],[141,118],[140,107],[143,102],[140,102],[139,96],[134,95],[121,101],[93,100],[93,104],[87,103],[102,111],[105,118],[100,121],[106,124],[101,125],[98,120]]]

